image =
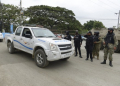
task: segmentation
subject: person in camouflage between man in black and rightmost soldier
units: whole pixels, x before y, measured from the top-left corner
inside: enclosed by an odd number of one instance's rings
[[[97,60],[99,60],[99,50],[101,47],[101,37],[99,36],[99,32],[94,32],[94,37],[93,37],[93,41],[94,41],[94,46],[93,46],[93,58],[95,57],[95,55],[97,56]]]

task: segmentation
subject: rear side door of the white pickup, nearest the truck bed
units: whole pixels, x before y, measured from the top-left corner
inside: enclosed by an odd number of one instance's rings
[[[20,49],[20,34],[22,32],[22,27],[18,27],[16,29],[16,32],[15,32],[15,35],[13,36],[13,44],[14,44],[14,47],[17,48],[17,49]]]

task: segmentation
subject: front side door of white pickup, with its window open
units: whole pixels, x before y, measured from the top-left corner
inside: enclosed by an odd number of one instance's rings
[[[29,28],[24,28],[21,36],[20,42],[22,43],[21,45],[21,50],[32,53],[33,51],[33,38],[32,38],[32,33]]]

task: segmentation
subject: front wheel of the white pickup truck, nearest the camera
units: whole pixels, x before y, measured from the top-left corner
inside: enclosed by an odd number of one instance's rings
[[[44,68],[49,64],[45,52],[42,49],[38,49],[34,55],[35,63],[38,67]]]

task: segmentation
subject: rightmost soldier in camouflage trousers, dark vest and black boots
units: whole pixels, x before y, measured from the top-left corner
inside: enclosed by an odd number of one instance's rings
[[[116,50],[117,46],[117,40],[116,36],[113,33],[113,28],[108,28],[108,34],[105,36],[103,44],[105,46],[104,48],[104,61],[101,62],[101,64],[106,64],[107,56],[109,54],[109,65],[112,67],[112,54],[114,53],[114,50]]]

